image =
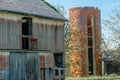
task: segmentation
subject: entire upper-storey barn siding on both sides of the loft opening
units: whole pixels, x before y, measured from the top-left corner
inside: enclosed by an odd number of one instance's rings
[[[0,12],[0,49],[22,49],[22,17],[33,20],[38,50],[64,51],[64,21]]]

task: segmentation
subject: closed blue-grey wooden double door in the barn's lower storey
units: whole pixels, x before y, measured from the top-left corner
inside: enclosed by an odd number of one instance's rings
[[[40,80],[38,53],[10,52],[10,80]]]

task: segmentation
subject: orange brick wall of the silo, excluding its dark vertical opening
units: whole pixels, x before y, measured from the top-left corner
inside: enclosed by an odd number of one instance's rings
[[[102,55],[100,53],[100,11],[94,7],[71,8],[70,20],[70,74],[72,77],[85,77],[89,75],[87,55],[87,16],[94,16],[95,34],[95,75],[102,74]]]

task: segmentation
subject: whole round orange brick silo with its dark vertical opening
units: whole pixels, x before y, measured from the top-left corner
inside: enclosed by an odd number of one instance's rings
[[[100,10],[94,7],[71,8],[69,20],[71,76],[102,75]]]

